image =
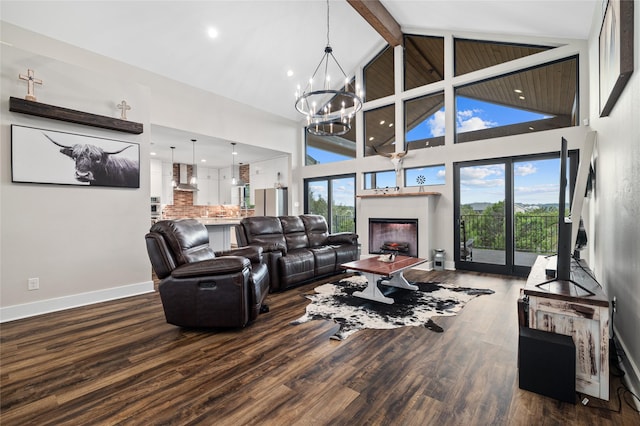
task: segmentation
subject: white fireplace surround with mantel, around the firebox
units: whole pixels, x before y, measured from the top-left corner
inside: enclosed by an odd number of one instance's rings
[[[362,256],[378,256],[369,252],[369,219],[418,219],[418,257],[428,262],[417,268],[432,269],[433,266],[433,229],[435,224],[435,201],[439,192],[412,192],[392,194],[358,195],[356,208],[358,211],[359,242]]]

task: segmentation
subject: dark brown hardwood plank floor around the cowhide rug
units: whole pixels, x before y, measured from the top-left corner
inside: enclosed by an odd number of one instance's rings
[[[241,330],[164,320],[157,293],[2,324],[8,425],[637,425],[619,380],[610,402],[557,402],[518,388],[516,299],[524,280],[409,271],[410,280],[491,288],[444,328],[365,330],[329,340],[327,321],[292,326],[315,284],[268,297]]]

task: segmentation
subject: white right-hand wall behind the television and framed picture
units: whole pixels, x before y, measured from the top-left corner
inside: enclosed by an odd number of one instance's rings
[[[640,4],[635,3],[634,73],[609,117],[599,117],[598,9],[589,38],[591,126],[598,132],[596,185],[589,200],[592,267],[609,299],[616,297],[616,337],[640,378]],[[637,391],[640,389],[636,389]]]

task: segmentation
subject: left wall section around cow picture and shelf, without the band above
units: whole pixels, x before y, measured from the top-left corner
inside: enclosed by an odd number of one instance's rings
[[[40,102],[118,117],[116,104],[126,99],[135,107],[130,119],[147,131],[131,135],[9,112],[9,97],[26,94],[17,77],[27,68],[44,80],[35,90]],[[2,321],[153,291],[143,238],[149,227],[148,88],[9,46],[2,46],[0,84]],[[11,124],[138,143],[140,188],[12,183]],[[73,173],[71,160],[69,166]],[[28,278],[36,277],[40,289],[28,291]]]

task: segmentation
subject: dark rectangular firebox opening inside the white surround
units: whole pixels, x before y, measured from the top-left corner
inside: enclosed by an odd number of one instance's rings
[[[369,253],[418,257],[418,219],[369,218]]]

